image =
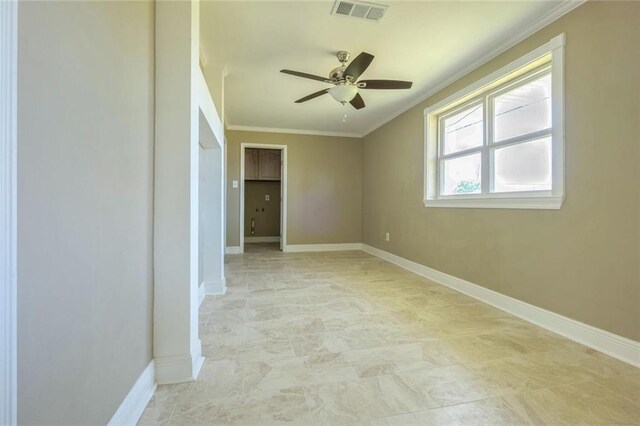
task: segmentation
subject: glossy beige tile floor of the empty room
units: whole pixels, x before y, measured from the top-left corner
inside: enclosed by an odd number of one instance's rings
[[[640,424],[640,369],[366,253],[228,256],[140,424]]]

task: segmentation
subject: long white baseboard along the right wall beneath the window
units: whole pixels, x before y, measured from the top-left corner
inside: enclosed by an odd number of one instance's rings
[[[568,339],[640,367],[640,342],[530,305],[366,244],[362,245],[362,250]]]

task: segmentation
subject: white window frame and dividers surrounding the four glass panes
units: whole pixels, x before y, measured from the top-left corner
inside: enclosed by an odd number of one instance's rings
[[[505,208],[505,209],[552,209],[557,210],[564,202],[564,45],[565,35],[560,34],[548,43],[529,52],[498,71],[482,78],[472,85],[454,93],[442,101],[424,110],[424,205],[426,207],[460,207],[460,208]],[[506,141],[488,144],[447,154],[448,158],[455,158],[475,152],[481,153],[482,179],[479,194],[441,194],[442,180],[441,161],[439,156],[438,128],[439,118],[449,115],[461,108],[485,100],[484,108],[491,108],[491,100],[495,96],[509,90],[513,86],[523,84],[534,78],[533,74],[546,73],[550,67],[552,85],[552,113],[551,113],[551,174],[552,188],[547,191],[520,191],[493,193],[493,177],[489,165],[492,161],[490,152],[498,146],[513,146],[525,140],[549,136],[548,131],[527,134],[526,137],[515,137]],[[485,111],[491,114],[491,111]],[[491,132],[485,123],[485,139],[490,140],[486,132]],[[533,138],[532,138],[533,137]]]

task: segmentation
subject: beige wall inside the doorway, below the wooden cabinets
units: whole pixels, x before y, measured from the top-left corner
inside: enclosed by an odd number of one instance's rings
[[[265,195],[269,195],[269,201]],[[280,236],[280,182],[245,181],[244,208],[245,237]],[[254,235],[251,235],[252,217],[255,218]]]

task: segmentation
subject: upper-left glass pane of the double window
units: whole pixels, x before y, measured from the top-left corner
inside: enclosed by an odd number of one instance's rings
[[[482,104],[467,108],[444,119],[444,154],[451,154],[482,145]]]

